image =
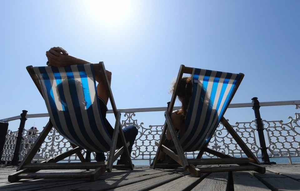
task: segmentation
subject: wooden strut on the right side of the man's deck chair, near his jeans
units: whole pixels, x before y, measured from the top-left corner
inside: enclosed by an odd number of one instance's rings
[[[118,141],[120,119],[121,119],[121,113],[120,113],[120,111],[118,111],[115,128],[113,130],[112,145],[110,147],[110,151],[109,151],[109,155],[108,155],[108,162],[107,162],[107,166],[106,166],[106,170],[108,172],[112,171],[113,162],[115,162],[115,160],[116,160],[114,156],[115,156],[117,141]]]

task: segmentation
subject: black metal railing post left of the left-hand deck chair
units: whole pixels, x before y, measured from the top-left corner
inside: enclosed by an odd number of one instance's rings
[[[26,110],[22,110],[22,113],[21,113],[21,118],[20,118],[21,122],[20,122],[18,136],[17,136],[17,143],[15,145],[15,152],[13,153],[12,165],[18,165],[20,147],[21,147],[21,141],[22,141],[22,134],[23,134],[23,130],[25,127],[25,121],[27,120],[27,118],[26,118],[27,112],[28,111],[26,111]]]

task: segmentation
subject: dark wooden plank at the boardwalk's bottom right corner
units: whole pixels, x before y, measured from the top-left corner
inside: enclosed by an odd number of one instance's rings
[[[272,190],[300,190],[300,182],[280,174],[254,172],[253,175]]]

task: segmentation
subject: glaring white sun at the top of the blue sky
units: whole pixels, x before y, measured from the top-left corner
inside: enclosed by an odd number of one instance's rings
[[[83,1],[83,7],[93,22],[108,27],[125,25],[132,13],[132,3],[126,0]]]

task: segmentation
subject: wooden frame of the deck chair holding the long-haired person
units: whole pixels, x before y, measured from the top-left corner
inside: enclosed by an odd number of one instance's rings
[[[244,153],[247,155],[247,158],[234,158],[230,155],[221,153],[219,151],[209,149],[207,148],[208,143],[199,151],[199,154],[197,155],[196,159],[187,159],[185,157],[183,148],[181,144],[179,143],[179,139],[176,135],[175,129],[173,127],[172,121],[171,121],[171,114],[173,111],[173,106],[176,100],[176,96],[178,93],[178,89],[180,86],[180,81],[183,76],[183,73],[186,74],[194,74],[195,68],[191,67],[185,67],[184,65],[180,66],[177,80],[175,82],[175,87],[173,91],[173,95],[171,98],[170,105],[168,107],[168,111],[165,111],[164,115],[166,118],[164,127],[163,127],[163,133],[160,138],[160,142],[156,141],[155,144],[158,146],[156,157],[153,161],[153,169],[155,168],[168,168],[168,167],[178,167],[181,166],[184,169],[187,169],[189,172],[192,174],[196,175],[199,177],[201,173],[212,173],[212,172],[227,172],[227,171],[245,171],[245,170],[254,170],[259,173],[265,173],[265,167],[260,165],[260,162],[257,160],[255,155],[251,152],[251,150],[247,147],[247,145],[243,142],[243,140],[237,135],[235,130],[232,128],[232,126],[227,122],[227,120],[221,116],[221,123],[225,126],[227,131],[232,135],[233,139],[237,142],[237,144],[241,147],[241,149],[244,151]],[[240,73],[241,78],[237,82],[237,85],[235,89],[233,90],[232,96],[229,100],[232,100],[235,92],[237,91],[238,86],[240,85],[242,78],[244,74]],[[229,105],[228,103],[228,105]],[[224,113],[226,112],[226,109],[224,110]],[[224,115],[223,113],[223,115]],[[174,142],[176,151],[178,154],[174,153],[172,150],[168,149],[165,145],[163,145],[163,140],[165,139],[166,136],[166,131],[167,128],[170,130],[170,133],[172,135],[172,140]],[[158,164],[158,156],[160,152],[163,151],[165,152],[168,156],[170,156],[172,159],[174,159],[179,165],[171,165],[171,164]],[[209,154],[213,154],[219,158],[212,158],[212,159],[201,159],[202,155],[204,152],[207,152]],[[239,166],[216,166],[216,167],[202,167],[202,168],[197,168],[197,165],[215,165],[215,164],[238,164]]]

